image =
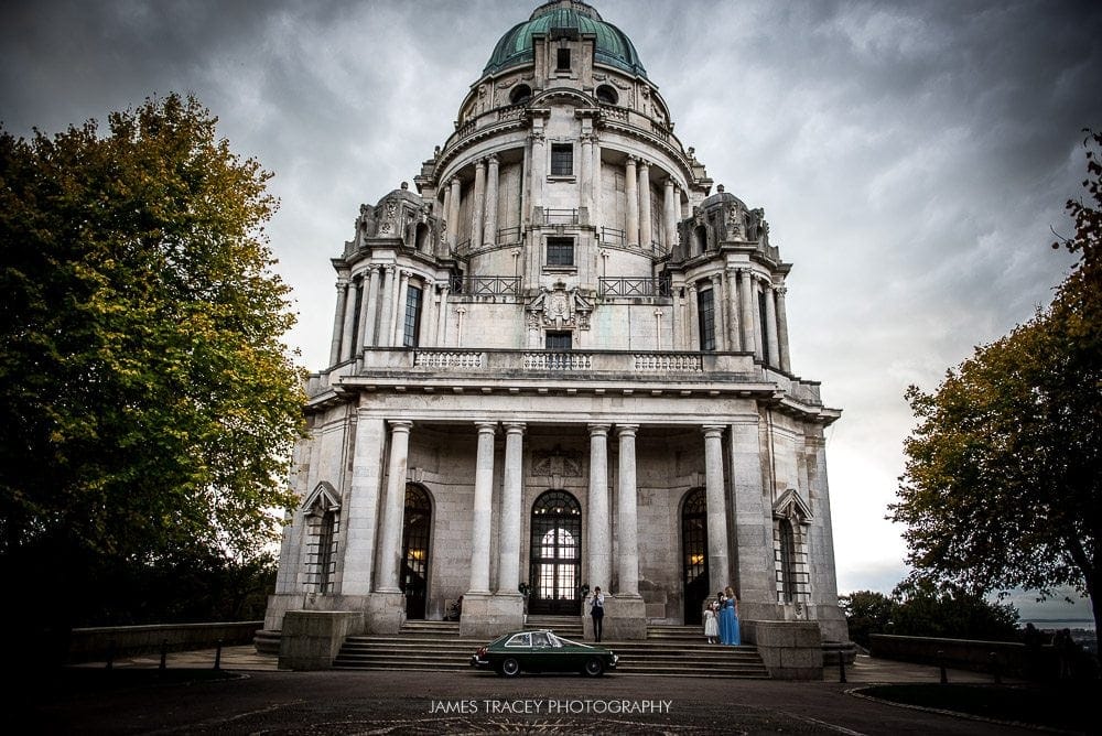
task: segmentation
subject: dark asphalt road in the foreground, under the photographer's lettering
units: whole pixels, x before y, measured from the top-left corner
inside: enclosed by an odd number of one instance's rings
[[[24,683],[21,702],[7,710],[9,726],[18,729],[6,730],[311,736],[1037,733],[887,705],[853,694],[860,684],[839,682],[623,674],[505,680],[476,671],[234,674],[163,681],[154,671],[114,680],[110,671],[69,671],[61,681]]]

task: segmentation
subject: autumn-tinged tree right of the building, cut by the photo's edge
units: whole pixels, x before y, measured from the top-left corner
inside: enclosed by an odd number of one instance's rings
[[[1085,142],[1085,201],[1068,212],[1079,256],[1051,305],[975,354],[932,393],[889,518],[916,575],[974,594],[1072,586],[1102,628],[1102,134]]]

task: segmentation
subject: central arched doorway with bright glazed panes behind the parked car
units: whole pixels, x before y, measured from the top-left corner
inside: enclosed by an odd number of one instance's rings
[[[565,490],[549,490],[532,504],[531,614],[579,615],[582,569],[582,506]]]

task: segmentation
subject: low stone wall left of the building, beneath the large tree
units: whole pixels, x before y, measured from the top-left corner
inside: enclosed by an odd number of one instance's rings
[[[252,643],[263,621],[226,624],[154,624],[150,626],[104,626],[73,629],[68,661],[93,662],[111,657],[130,657],[190,649],[213,649],[222,642],[231,647]]]

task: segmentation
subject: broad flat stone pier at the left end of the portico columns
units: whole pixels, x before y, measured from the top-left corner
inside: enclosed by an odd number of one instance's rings
[[[367,595],[371,592],[386,440],[387,430],[382,420],[371,419],[360,410],[352,458],[352,489],[341,522],[344,533],[343,595]]]

